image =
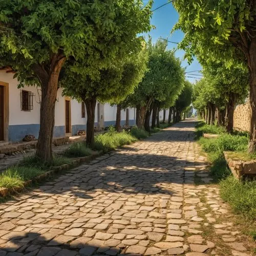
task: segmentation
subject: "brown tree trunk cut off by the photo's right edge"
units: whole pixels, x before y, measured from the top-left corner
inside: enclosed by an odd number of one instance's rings
[[[255,6],[255,4],[254,4]],[[256,151],[256,38],[251,38],[251,44],[247,57],[249,74],[250,74],[250,105],[251,105],[251,120],[250,120],[250,141],[249,152]]]

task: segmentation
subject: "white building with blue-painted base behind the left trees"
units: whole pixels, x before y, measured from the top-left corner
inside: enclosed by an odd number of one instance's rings
[[[0,141],[20,141],[25,135],[36,138],[40,127],[40,88],[17,88],[18,81],[13,73],[0,71]],[[86,130],[87,115],[83,103],[57,93],[55,105],[54,137],[76,135],[79,130]],[[135,125],[135,109],[129,110],[129,125]],[[116,107],[97,103],[95,127],[115,124]],[[121,124],[126,120],[126,111],[121,113]]]

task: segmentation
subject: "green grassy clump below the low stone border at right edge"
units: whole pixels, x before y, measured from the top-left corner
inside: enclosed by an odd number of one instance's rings
[[[229,176],[220,182],[220,194],[235,213],[256,219],[256,181],[239,181]]]

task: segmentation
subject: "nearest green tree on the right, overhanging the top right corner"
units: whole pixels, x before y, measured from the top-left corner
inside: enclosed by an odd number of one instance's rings
[[[175,0],[180,18],[174,29],[185,32],[180,47],[193,54],[224,59],[228,66],[242,60],[248,67],[252,109],[249,151],[256,150],[256,1]]]

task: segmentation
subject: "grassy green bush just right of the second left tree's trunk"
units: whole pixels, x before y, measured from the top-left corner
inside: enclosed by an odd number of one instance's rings
[[[131,134],[125,131],[118,133],[110,127],[109,132],[95,136],[93,149],[108,152],[110,150],[114,150],[118,146],[131,144],[136,140],[137,139]]]

